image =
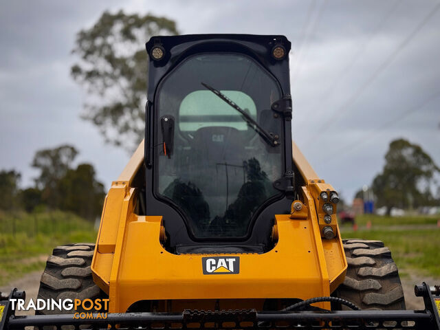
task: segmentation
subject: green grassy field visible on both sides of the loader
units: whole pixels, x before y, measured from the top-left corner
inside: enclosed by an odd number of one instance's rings
[[[371,230],[366,230],[369,220]],[[356,222],[360,228],[356,232],[351,225],[342,225],[344,239],[384,241],[391,249],[402,276],[416,270],[423,275],[440,277],[437,217],[362,215],[356,218]],[[94,225],[71,213],[0,213],[0,285],[27,272],[43,270],[45,259],[57,245],[94,241]]]

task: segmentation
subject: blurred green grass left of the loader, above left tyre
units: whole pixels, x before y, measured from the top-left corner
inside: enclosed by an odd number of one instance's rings
[[[96,241],[93,223],[67,212],[0,214],[0,285],[34,270],[57,245]]]

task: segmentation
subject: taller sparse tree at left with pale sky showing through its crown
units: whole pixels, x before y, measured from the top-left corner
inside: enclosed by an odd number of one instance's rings
[[[40,170],[40,175],[35,180],[36,188],[41,190],[41,199],[50,208],[56,208],[59,204],[58,181],[67,173],[76,155],[76,148],[68,144],[43,149],[34,155],[32,167]]]

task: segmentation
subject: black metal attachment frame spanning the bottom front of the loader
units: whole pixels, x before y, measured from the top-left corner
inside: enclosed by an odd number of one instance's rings
[[[69,326],[80,329],[108,330],[118,329],[207,329],[207,324],[214,323],[215,329],[414,329],[440,330],[439,315],[430,287],[423,283],[417,285],[416,295],[423,297],[425,309],[420,311],[321,311],[309,309],[306,311],[256,311],[255,309],[234,309],[228,311],[195,311],[185,310],[183,313],[142,312],[114,313],[107,318],[92,318],[83,320],[74,318],[74,314],[14,316],[12,308],[5,307],[7,316],[0,324],[0,330],[25,330],[25,327],[56,327],[61,329]],[[437,291],[434,291],[434,294]],[[10,298],[21,298],[21,292],[14,289],[8,300],[0,295],[0,303],[10,304]],[[22,296],[23,297],[23,296]],[[23,297],[24,298],[24,297]],[[5,305],[2,305],[5,306]],[[229,323],[232,325],[229,325]],[[392,322],[392,325],[384,325]],[[409,325],[408,322],[412,322]],[[191,325],[199,323],[199,325]],[[404,324],[404,326],[402,326]],[[408,325],[406,325],[408,324]],[[210,325],[211,327],[211,325]],[[214,329],[214,328],[212,328]]]

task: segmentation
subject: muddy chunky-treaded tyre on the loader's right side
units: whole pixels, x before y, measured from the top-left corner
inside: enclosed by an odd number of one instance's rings
[[[405,309],[404,290],[390,249],[381,241],[346,239],[342,243],[347,275],[333,295],[350,300],[361,309]]]

